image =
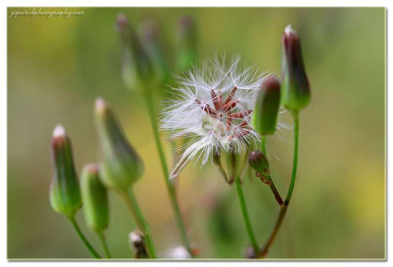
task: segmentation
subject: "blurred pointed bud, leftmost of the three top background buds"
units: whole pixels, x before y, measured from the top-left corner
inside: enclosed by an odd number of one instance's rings
[[[116,18],[121,50],[121,72],[127,88],[140,89],[154,80],[151,59],[144,51],[139,36],[127,17],[120,13]]]

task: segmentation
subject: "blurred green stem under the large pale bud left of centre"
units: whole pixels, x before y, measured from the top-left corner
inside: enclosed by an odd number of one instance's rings
[[[157,254],[154,247],[153,238],[151,237],[150,225],[143,217],[142,211],[140,210],[140,207],[138,205],[138,201],[134,195],[134,191],[132,190],[132,188],[130,188],[127,193],[123,191],[122,196],[124,197],[124,200],[126,201],[131,213],[134,215],[138,227],[143,231],[143,234],[145,235],[146,244],[149,248],[151,257],[153,259],[156,259]]]

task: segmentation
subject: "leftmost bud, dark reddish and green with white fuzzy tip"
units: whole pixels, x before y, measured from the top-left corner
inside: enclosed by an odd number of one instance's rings
[[[57,213],[73,219],[82,207],[78,176],[74,167],[71,140],[63,126],[57,125],[51,140],[52,181],[50,200]]]

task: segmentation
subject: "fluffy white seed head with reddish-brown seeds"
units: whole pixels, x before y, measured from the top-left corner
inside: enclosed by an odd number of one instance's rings
[[[242,67],[239,61],[239,56],[233,57],[227,65],[225,55],[222,59],[216,55],[177,76],[181,86],[172,88],[174,99],[167,102],[162,113],[161,128],[170,138],[194,137],[178,148],[183,150],[185,163],[200,152],[203,165],[213,152],[234,149],[240,153],[260,141],[250,118],[258,90],[273,74],[258,74],[254,66]],[[181,168],[173,170],[171,176]]]

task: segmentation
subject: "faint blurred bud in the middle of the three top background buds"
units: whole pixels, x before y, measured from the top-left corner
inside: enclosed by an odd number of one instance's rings
[[[157,74],[157,82],[160,84],[168,84],[171,73],[168,68],[168,58],[166,58],[164,42],[160,38],[160,30],[158,23],[153,20],[145,20],[138,27],[140,39],[146,52],[152,59],[155,72]]]

